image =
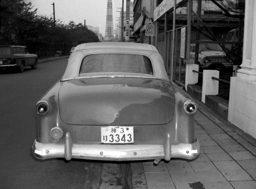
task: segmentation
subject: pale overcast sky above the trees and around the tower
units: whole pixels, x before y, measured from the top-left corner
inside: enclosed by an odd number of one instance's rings
[[[53,6],[55,4],[55,20],[68,24],[73,20],[76,24],[84,24],[93,27],[99,27],[99,32],[105,36],[106,15],[108,0],[24,0],[26,3],[31,2],[34,9],[38,9],[39,15],[53,17]],[[113,27],[115,29],[116,17],[119,12],[116,9],[121,8],[122,0],[112,0],[113,9]],[[125,7],[125,6],[124,6]]]

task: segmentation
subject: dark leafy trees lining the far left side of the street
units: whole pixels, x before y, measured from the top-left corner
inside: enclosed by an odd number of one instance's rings
[[[73,20],[64,25],[52,17],[37,15],[32,3],[23,0],[0,0],[3,17],[0,25],[0,44],[26,45],[38,56],[51,56],[58,50],[69,54],[71,47],[81,43],[98,42],[95,33]]]

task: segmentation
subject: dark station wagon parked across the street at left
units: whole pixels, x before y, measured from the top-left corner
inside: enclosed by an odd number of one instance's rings
[[[38,55],[29,54],[29,51],[24,46],[0,46],[0,70],[3,68],[15,68],[18,72],[23,72],[26,66],[36,69]]]

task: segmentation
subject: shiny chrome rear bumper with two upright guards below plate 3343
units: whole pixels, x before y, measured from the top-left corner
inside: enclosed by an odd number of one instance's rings
[[[200,154],[200,143],[196,138],[192,144],[171,145],[169,137],[163,145],[136,144],[136,145],[105,145],[105,144],[73,144],[70,133],[66,133],[65,143],[40,143],[34,141],[32,153],[38,159],[54,157],[88,159],[88,160],[151,160],[180,157],[194,159]]]

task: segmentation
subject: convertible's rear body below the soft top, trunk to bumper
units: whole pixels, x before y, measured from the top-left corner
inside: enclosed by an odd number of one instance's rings
[[[35,156],[116,161],[197,157],[195,104],[169,81],[139,80],[61,83],[56,99],[44,97],[37,105]],[[192,112],[186,111],[191,105]]]

